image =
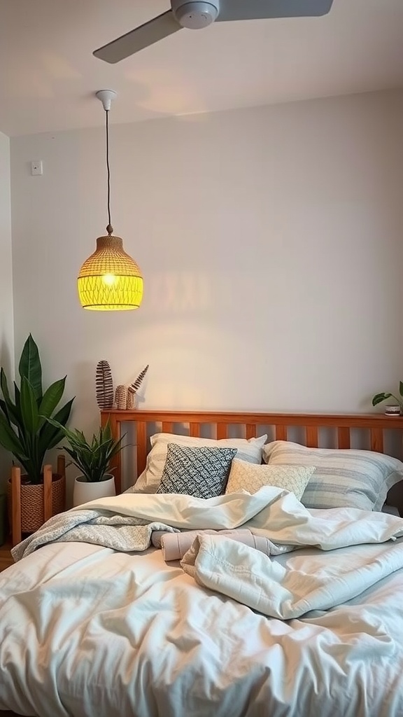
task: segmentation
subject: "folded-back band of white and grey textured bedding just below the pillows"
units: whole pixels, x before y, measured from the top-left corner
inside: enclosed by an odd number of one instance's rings
[[[203,500],[181,494],[101,498],[50,518],[11,553],[19,560],[46,543],[82,541],[122,552],[143,551],[152,531],[249,528],[277,545],[322,550],[381,543],[403,535],[403,519],[353,508],[308,511],[293,493],[261,488]]]

